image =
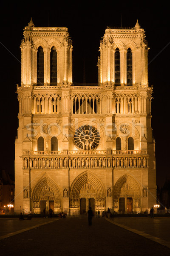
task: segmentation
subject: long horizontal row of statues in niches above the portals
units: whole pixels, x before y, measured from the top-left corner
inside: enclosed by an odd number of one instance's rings
[[[139,157],[138,159],[136,157],[125,159],[123,157],[113,157],[111,159],[108,157],[106,159],[105,157],[99,159],[95,158],[69,158],[66,157],[64,159],[62,158],[30,158],[29,159],[29,168],[96,168],[96,167],[147,167],[147,159],[144,157],[143,159]],[[28,168],[28,159],[24,159],[24,168]]]

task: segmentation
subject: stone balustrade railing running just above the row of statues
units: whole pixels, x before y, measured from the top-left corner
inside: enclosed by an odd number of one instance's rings
[[[147,150],[62,150],[62,151],[23,151],[23,155],[144,155]]]

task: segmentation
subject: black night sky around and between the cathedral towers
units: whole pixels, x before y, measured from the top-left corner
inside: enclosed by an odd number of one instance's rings
[[[4,2],[4,1],[3,1]],[[152,127],[156,141],[157,184],[162,186],[170,177],[168,146],[169,132],[169,73],[170,22],[166,6],[144,7],[128,4],[108,9],[73,9],[73,6],[51,4],[46,8],[40,2],[1,4],[0,56],[1,56],[1,154],[0,169],[14,173],[14,141],[18,127],[18,101],[16,84],[20,84],[20,44],[23,29],[32,17],[35,26],[66,26],[73,41],[73,81],[83,81],[85,62],[86,82],[98,82],[96,67],[99,43],[107,26],[134,27],[136,20],[145,30],[149,50],[149,85],[153,85]],[[112,3],[112,2],[111,2]],[[154,7],[154,8],[153,8]],[[63,11],[62,11],[63,10]],[[121,18],[122,17],[122,18]],[[122,21],[121,21],[122,20]]]

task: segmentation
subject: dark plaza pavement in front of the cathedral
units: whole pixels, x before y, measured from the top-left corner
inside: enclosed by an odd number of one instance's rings
[[[170,256],[169,227],[170,218],[0,218],[0,255]]]

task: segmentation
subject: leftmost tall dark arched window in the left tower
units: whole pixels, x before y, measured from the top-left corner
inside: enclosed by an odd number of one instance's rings
[[[44,52],[41,46],[37,51],[37,84],[44,84]]]

